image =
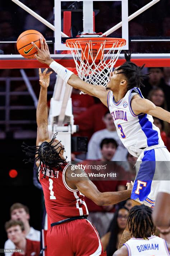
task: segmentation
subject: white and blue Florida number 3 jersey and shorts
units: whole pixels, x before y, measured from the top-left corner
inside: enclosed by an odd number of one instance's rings
[[[131,198],[154,208],[156,189],[160,183],[160,165],[157,167],[156,163],[164,161],[167,165],[170,155],[161,139],[159,128],[153,124],[152,116],[134,114],[131,100],[135,94],[143,98],[140,89],[134,87],[127,91],[124,98],[115,102],[113,92],[110,91],[107,102],[119,138],[129,153],[138,157]]]

